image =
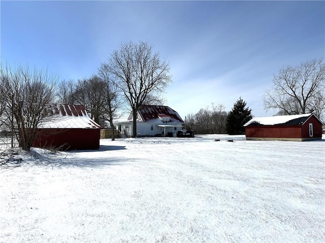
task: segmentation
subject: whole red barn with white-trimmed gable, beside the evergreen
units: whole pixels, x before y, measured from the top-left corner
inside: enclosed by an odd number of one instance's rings
[[[322,122],[314,114],[254,117],[245,125],[246,140],[321,139]]]

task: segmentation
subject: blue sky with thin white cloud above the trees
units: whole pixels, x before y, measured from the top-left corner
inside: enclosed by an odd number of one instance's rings
[[[164,96],[184,118],[241,96],[254,116],[273,74],[325,55],[324,1],[0,1],[1,61],[90,77],[123,42],[170,62]]]

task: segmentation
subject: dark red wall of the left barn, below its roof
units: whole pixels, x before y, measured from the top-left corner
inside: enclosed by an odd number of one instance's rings
[[[34,147],[60,147],[62,150],[99,149],[100,129],[40,129]]]

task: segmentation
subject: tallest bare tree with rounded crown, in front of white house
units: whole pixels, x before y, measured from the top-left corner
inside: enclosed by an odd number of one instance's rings
[[[137,112],[148,95],[156,96],[171,82],[169,63],[161,61],[149,43],[124,43],[109,57],[109,71],[133,113],[133,137],[137,136]]]

